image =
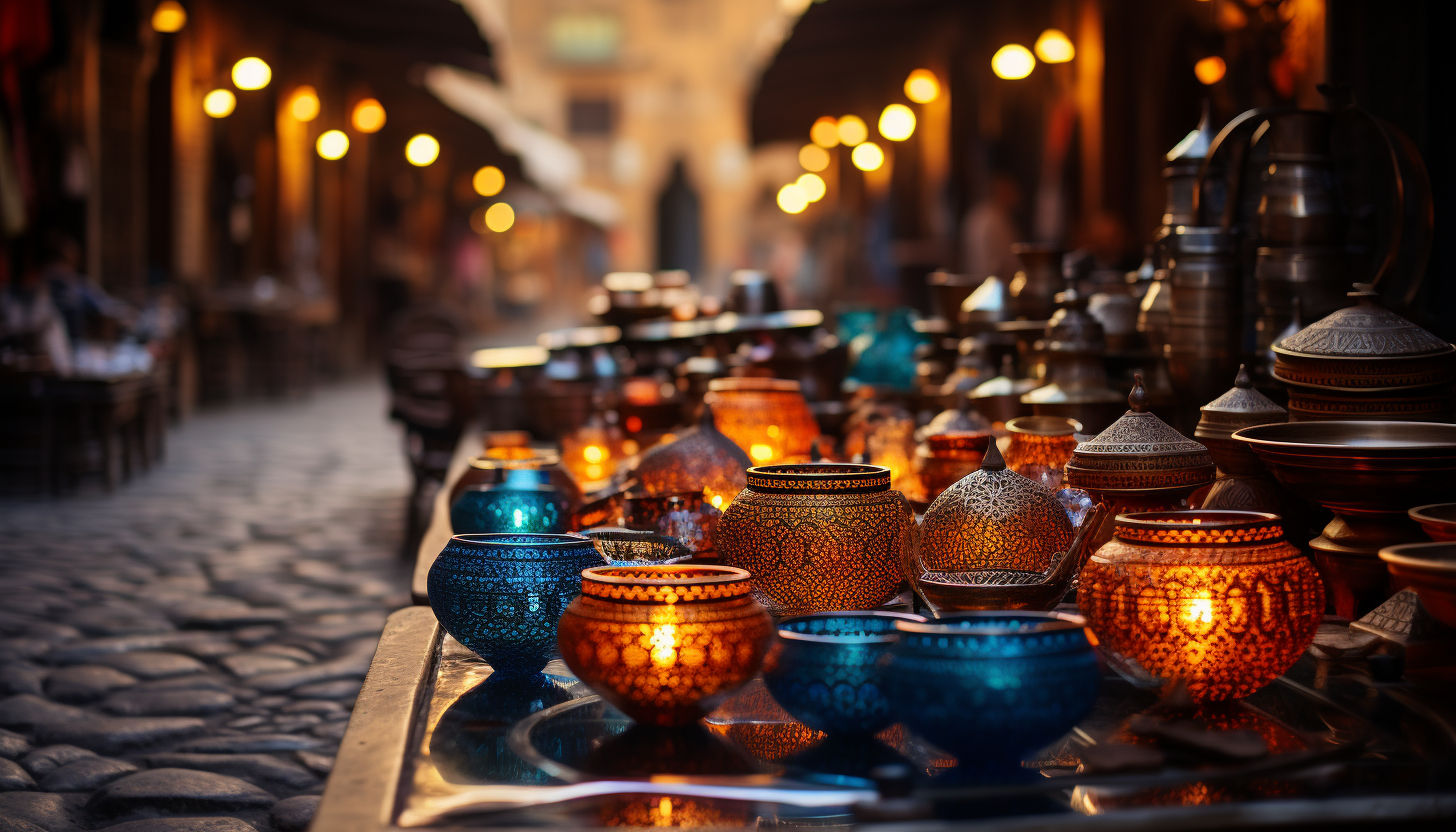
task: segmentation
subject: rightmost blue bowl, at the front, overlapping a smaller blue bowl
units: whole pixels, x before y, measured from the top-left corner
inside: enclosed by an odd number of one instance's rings
[[[893,711],[962,765],[1013,768],[1096,701],[1101,670],[1080,615],[962,612],[895,628],[885,670]]]

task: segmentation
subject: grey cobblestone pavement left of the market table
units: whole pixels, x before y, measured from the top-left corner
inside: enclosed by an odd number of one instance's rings
[[[384,408],[202,414],[112,494],[0,501],[0,832],[307,826],[409,603]]]

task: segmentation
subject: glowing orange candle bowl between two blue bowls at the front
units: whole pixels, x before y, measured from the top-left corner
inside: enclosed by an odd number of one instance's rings
[[[773,619],[743,570],[597,567],[558,632],[566,666],[601,698],[644,724],[687,726],[753,678]]]

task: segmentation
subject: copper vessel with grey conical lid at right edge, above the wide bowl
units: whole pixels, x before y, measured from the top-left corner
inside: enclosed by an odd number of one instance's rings
[[[1450,421],[1456,347],[1376,305],[1356,284],[1341,309],[1274,345],[1290,421]]]

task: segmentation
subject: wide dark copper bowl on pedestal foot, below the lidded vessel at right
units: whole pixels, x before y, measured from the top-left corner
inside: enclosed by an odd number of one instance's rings
[[[1411,506],[1456,498],[1456,425],[1406,421],[1321,421],[1246,427],[1275,479],[1335,513],[1310,541],[1335,613],[1357,618],[1389,597],[1376,557],[1423,539]]]

